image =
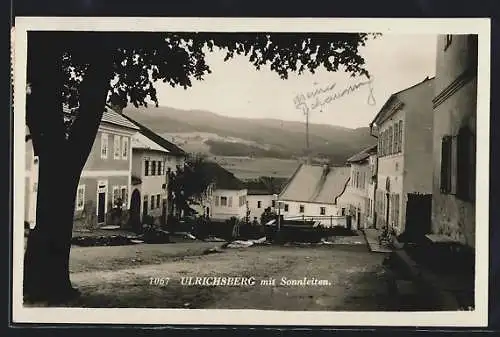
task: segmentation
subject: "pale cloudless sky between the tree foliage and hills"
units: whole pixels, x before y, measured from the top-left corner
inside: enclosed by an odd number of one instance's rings
[[[384,35],[369,40],[360,48],[366,69],[372,76],[371,93],[368,85],[323,104],[321,109],[309,109],[311,123],[339,125],[348,128],[365,127],[391,94],[412,86],[435,74],[435,35]],[[172,88],[157,83],[160,106],[178,109],[200,109],[220,115],[240,118],[273,118],[305,121],[302,109],[294,98],[318,88],[333,88],[329,95],[366,83],[366,78],[352,78],[343,71],[316,74],[291,74],[279,78],[268,68],[257,71],[244,56],[224,62],[224,53],[207,54],[212,73],[204,81],[194,81],[188,89]],[[328,94],[323,94],[323,102]],[[316,98],[315,98],[316,99]],[[307,105],[312,107],[313,101]]]

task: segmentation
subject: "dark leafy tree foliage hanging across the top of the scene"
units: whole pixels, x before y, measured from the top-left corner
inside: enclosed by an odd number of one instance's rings
[[[48,33],[30,33],[48,34]],[[359,54],[370,33],[90,33],[64,32],[57,35],[65,76],[63,97],[70,107],[79,105],[79,88],[92,62],[88,48],[107,53],[112,70],[108,102],[116,107],[127,104],[158,105],[155,82],[188,88],[193,80],[211,73],[205,56],[222,51],[225,60],[243,55],[256,70],[267,67],[282,79],[290,73],[315,73],[324,68],[339,69],[352,76],[368,75]],[[104,74],[103,74],[104,75]]]

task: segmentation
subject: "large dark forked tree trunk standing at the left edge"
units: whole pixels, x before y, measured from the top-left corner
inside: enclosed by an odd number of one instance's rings
[[[79,90],[79,112],[67,136],[62,119],[61,41],[41,34],[28,40],[32,94],[26,117],[39,156],[39,181],[23,290],[28,300],[58,303],[78,294],[69,278],[76,191],[102,118],[112,67],[107,50],[96,47],[86,55],[89,67]]]

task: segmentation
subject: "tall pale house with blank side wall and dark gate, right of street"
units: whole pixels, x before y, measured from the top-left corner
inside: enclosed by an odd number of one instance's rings
[[[378,138],[375,225],[397,235],[408,226],[425,232],[430,222],[433,93],[433,78],[397,92],[370,124]]]

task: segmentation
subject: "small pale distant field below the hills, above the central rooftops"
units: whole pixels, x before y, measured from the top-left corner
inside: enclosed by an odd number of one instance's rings
[[[221,156],[214,156],[212,159],[240,179],[260,176],[289,178],[299,165],[298,161],[292,159]]]

